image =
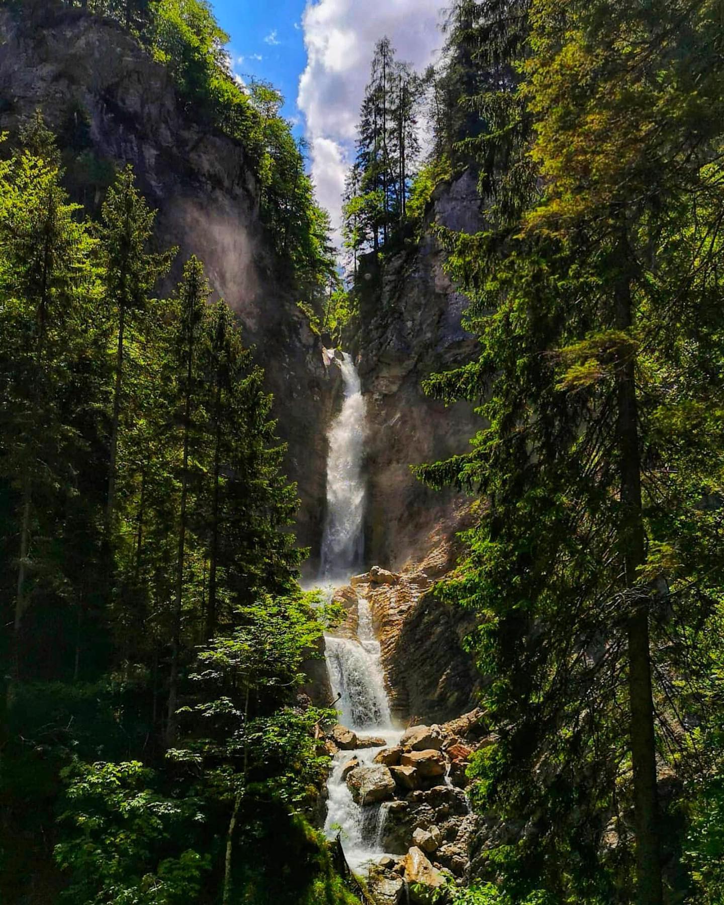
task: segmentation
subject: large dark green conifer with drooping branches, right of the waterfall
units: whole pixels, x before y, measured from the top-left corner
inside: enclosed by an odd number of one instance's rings
[[[676,719],[653,681],[668,670],[655,639],[666,606],[715,596],[704,562],[720,568],[694,490],[721,474],[710,434],[722,353],[716,21],[678,5],[540,0],[528,44],[527,24],[488,44],[512,54],[499,60],[503,89],[480,107],[490,132],[473,145],[491,227],[441,233],[481,357],[428,384],[470,399],[487,424],[473,452],[421,474],[487,504],[443,593],[482,615],[474,646],[500,730],[477,763],[488,804],[538,811],[541,832],[520,854],[548,889],[569,894],[577,874],[577,895],[606,899],[600,813],[617,813],[630,760],[642,905],[662,901],[654,710],[664,732]],[[513,63],[520,90],[502,77]],[[691,438],[681,405],[701,415],[700,465],[680,459]]]

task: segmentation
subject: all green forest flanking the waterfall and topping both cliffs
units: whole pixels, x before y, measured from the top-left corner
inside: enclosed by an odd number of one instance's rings
[[[344,267],[204,0],[3,7],[114,22],[243,148],[317,338],[360,351],[360,298],[424,237],[467,300],[477,353],[424,391],[480,428],[415,474],[471,503],[435,595],[474,624],[488,832],[405,895],[721,905],[724,2],[455,0],[424,72],[381,36]],[[132,167],[46,112],[0,144],[0,897],[372,903],[319,830],[336,715],[306,672],[344,613],[301,590],[257,352]],[[433,216],[463,174],[474,233]]]

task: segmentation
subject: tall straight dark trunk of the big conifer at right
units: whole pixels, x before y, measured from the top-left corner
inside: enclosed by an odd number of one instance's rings
[[[624,240],[622,260],[628,260]],[[616,298],[616,328],[632,325],[631,284],[626,275],[619,281]],[[617,370],[617,443],[621,462],[622,523],[619,543],[624,553],[625,590],[633,595],[633,613],[628,618],[629,706],[631,757],[633,763],[634,824],[636,829],[636,888],[638,905],[662,905],[661,852],[658,832],[659,808],[656,789],[656,748],[651,681],[648,603],[651,599],[637,585],[637,569],[645,558],[641,452],[638,435],[638,405],[633,354],[620,360]]]

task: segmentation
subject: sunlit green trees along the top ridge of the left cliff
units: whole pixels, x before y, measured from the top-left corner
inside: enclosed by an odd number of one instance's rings
[[[30,20],[42,20],[40,9],[48,14],[65,3],[51,0],[39,8],[36,0],[17,0],[17,5]],[[335,272],[329,215],[314,199],[304,146],[280,115],[280,92],[266,82],[247,86],[237,79],[226,50],[229,36],[208,0],[68,0],[68,5],[118,21],[167,68],[179,100],[202,129],[218,130],[243,145],[270,241],[305,300],[318,307]],[[69,182],[92,205],[95,190],[110,182],[109,165],[83,147],[82,110],[69,110],[63,131]]]

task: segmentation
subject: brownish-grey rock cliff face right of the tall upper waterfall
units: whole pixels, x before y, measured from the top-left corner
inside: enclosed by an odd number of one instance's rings
[[[430,222],[452,229],[480,227],[475,178],[465,174],[433,196]],[[475,354],[462,329],[467,300],[443,272],[444,254],[427,232],[409,252],[363,263],[359,371],[367,395],[366,558],[399,568],[419,562],[441,529],[452,534],[468,500],[430,491],[409,466],[464,452],[480,426],[472,406],[446,408],[424,395],[422,381]]]

